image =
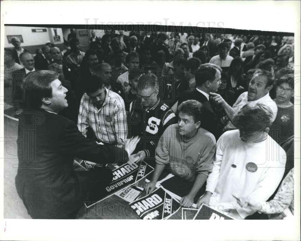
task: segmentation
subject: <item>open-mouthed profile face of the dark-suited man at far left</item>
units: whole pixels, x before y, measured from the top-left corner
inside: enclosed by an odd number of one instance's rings
[[[53,112],[57,113],[58,111],[68,107],[67,99],[65,99],[68,90],[62,86],[59,79],[52,81],[50,86],[52,88],[52,97],[49,98],[51,101],[49,107],[53,110]]]

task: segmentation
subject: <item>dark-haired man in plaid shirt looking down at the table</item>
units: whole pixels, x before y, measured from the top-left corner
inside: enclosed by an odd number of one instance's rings
[[[104,83],[98,76],[88,77],[86,93],[79,106],[77,126],[84,136],[91,127],[98,142],[122,145],[128,134],[124,102]]]

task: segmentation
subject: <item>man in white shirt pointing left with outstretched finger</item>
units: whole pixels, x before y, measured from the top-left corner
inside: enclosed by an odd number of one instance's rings
[[[228,103],[219,94],[210,93],[210,95],[213,96],[215,103],[221,106],[228,116],[229,121],[223,131],[225,132],[227,130],[236,129],[235,125],[233,125],[233,116],[248,102],[267,105],[271,108],[273,113],[272,121],[275,121],[278,108],[276,103],[269,96],[269,91],[272,89],[274,84],[275,80],[270,72],[261,69],[256,71],[250,81],[248,91],[242,93],[238,97],[233,107],[228,105]]]

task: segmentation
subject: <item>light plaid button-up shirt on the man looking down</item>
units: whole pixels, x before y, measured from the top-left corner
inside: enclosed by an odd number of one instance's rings
[[[128,134],[124,102],[118,94],[105,90],[106,99],[99,110],[87,93],[82,96],[77,127],[84,136],[91,127],[99,141],[120,145]]]

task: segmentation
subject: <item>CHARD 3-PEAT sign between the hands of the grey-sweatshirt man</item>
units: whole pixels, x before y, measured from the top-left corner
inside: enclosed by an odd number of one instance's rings
[[[162,188],[129,204],[141,219],[166,219],[180,208],[179,202]]]

